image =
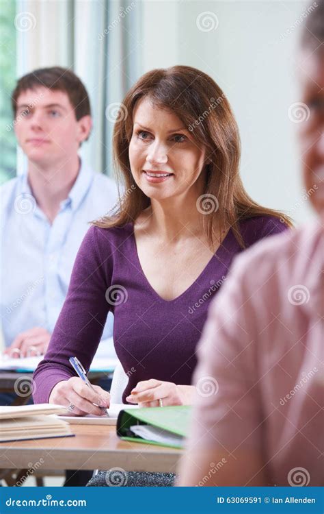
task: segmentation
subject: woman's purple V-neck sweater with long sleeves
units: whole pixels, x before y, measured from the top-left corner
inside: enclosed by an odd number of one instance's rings
[[[247,247],[285,229],[284,223],[269,216],[241,222]],[[208,306],[239,252],[230,230],[197,280],[167,301],[152,289],[141,269],[133,223],[112,229],[92,226],[77,254],[49,348],[33,375],[34,402],[48,402],[57,382],[75,376],[70,356],[89,369],[109,310],[114,315],[116,353],[129,376],[125,403],[139,380],[191,384]]]

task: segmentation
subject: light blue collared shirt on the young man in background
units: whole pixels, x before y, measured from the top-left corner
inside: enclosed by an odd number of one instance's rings
[[[3,339],[9,346],[29,328],[53,332],[88,222],[105,215],[118,195],[113,180],[83,163],[52,224],[36,204],[27,173],[3,184],[0,193],[0,306]],[[112,328],[109,314],[103,339],[112,336]],[[113,345],[107,345],[105,355],[116,355]]]

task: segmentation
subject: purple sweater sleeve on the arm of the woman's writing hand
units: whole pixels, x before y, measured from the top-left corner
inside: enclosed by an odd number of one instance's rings
[[[75,376],[69,363],[71,356],[79,358],[89,369],[96,353],[109,311],[105,293],[112,271],[109,247],[105,258],[100,258],[98,252],[98,238],[103,230],[92,226],[81,243],[48,350],[33,374],[36,404],[48,403],[55,384]],[[107,236],[103,241],[107,241]]]

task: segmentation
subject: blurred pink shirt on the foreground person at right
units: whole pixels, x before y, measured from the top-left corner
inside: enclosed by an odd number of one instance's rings
[[[323,262],[320,223],[243,252],[198,347],[189,445],[259,451],[269,485],[324,485]]]

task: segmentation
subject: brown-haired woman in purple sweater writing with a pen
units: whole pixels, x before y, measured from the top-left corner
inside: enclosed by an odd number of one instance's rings
[[[141,77],[122,103],[113,147],[120,206],[87,232],[34,374],[36,403],[66,404],[77,415],[100,415],[94,403],[109,405],[109,395],[85,387],[68,361],[77,356],[89,369],[109,310],[129,376],[123,401],[190,404],[195,347],[232,258],[291,225],[247,195],[230,105],[197,69]]]

